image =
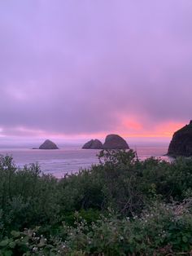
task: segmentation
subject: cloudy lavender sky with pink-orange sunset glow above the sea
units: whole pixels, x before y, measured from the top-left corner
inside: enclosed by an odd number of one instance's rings
[[[169,140],[191,70],[191,0],[0,0],[0,143]]]

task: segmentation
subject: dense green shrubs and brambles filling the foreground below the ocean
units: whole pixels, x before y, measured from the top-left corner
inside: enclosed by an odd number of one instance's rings
[[[0,255],[192,255],[192,160],[102,151],[55,179],[0,158]]]

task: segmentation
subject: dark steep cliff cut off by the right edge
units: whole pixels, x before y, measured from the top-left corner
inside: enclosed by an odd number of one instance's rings
[[[177,130],[168,147],[168,156],[192,156],[192,120],[189,125]]]

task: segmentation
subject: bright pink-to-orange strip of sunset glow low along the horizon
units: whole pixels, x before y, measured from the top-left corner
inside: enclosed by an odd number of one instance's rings
[[[168,121],[156,126],[151,125],[151,130],[146,128],[142,123],[139,123],[135,119],[129,119],[123,121],[121,126],[117,126],[114,130],[106,130],[98,133],[81,133],[76,135],[68,135],[64,133],[46,132],[45,130],[31,130],[25,127],[17,127],[15,132],[10,135],[3,134],[3,130],[0,130],[1,136],[21,136],[21,137],[36,137],[37,139],[104,139],[106,135],[118,134],[124,138],[172,138],[173,133],[185,126],[185,123]]]

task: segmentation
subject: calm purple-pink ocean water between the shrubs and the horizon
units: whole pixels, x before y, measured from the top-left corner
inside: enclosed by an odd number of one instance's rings
[[[129,143],[129,147],[137,151],[139,159],[159,157],[170,161],[169,157],[164,156],[168,151],[168,143]],[[43,173],[53,174],[57,178],[98,164],[98,152],[99,150],[94,149],[81,149],[80,145],[68,145],[59,150],[0,148],[0,155],[12,156],[16,166],[23,167],[31,163],[38,163]]]

